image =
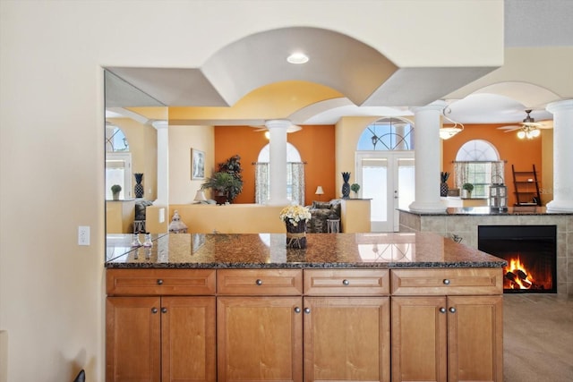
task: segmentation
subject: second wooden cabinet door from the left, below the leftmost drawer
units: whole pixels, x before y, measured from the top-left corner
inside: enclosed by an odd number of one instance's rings
[[[161,298],[163,382],[214,382],[215,297]]]

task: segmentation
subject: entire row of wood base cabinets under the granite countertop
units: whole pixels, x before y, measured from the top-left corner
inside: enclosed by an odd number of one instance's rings
[[[107,381],[502,381],[501,268],[107,269]]]

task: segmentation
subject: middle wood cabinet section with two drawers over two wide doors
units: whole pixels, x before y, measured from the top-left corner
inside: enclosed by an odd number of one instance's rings
[[[218,380],[389,381],[388,275],[219,272]]]

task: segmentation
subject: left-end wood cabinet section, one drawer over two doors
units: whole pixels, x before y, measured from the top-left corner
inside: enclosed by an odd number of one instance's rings
[[[214,275],[108,269],[106,380],[214,382]],[[188,295],[167,295],[177,293]]]

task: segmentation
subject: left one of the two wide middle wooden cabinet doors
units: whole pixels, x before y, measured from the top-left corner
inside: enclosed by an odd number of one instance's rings
[[[301,297],[218,297],[218,381],[303,379]]]

